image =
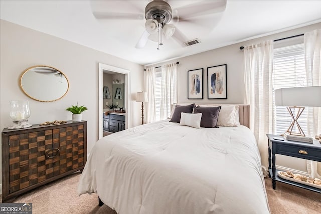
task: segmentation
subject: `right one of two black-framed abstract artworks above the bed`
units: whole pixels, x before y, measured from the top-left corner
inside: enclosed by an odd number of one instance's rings
[[[227,65],[207,67],[207,98],[227,99]]]

